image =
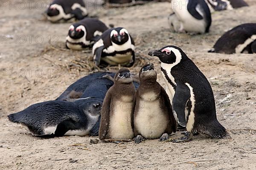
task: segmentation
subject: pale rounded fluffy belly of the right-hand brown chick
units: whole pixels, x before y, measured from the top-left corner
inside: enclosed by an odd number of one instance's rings
[[[134,125],[138,132],[147,139],[159,138],[168,126],[168,115],[164,114],[160,107],[157,95],[143,94],[139,102],[140,108],[134,117]]]

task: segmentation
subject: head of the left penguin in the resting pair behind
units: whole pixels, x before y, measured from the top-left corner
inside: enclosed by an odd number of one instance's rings
[[[86,29],[83,25],[80,25],[80,24],[71,25],[68,31],[68,35],[70,36],[70,38],[75,40],[80,39],[81,37],[84,37],[85,34],[86,34]]]

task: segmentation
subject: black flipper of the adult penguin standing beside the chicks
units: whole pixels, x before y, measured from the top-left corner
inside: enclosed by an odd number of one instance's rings
[[[177,87],[172,101],[172,110],[174,116],[177,118],[177,122],[183,127],[186,127],[185,109],[189,99],[189,87],[177,81]]]

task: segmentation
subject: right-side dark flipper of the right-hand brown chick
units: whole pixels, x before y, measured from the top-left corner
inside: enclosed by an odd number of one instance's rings
[[[163,87],[161,87],[161,96],[163,96],[163,99],[165,101],[165,105],[166,105],[166,107],[168,108],[168,111],[169,111],[172,132],[175,133],[176,129],[177,129],[176,120],[175,120],[175,117],[173,116],[172,105],[171,105],[169,96],[168,96],[168,94],[166,93],[166,91],[164,90]]]

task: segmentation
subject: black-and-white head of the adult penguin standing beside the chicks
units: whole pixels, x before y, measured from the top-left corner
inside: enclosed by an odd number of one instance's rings
[[[165,46],[160,50],[151,50],[148,55],[158,57],[162,63],[170,65],[177,65],[179,62],[188,59],[182,49],[174,45]]]

